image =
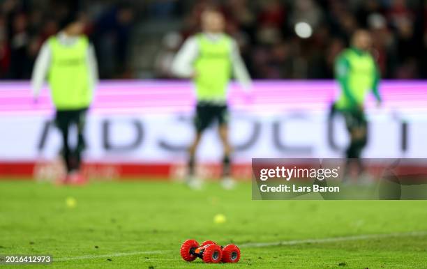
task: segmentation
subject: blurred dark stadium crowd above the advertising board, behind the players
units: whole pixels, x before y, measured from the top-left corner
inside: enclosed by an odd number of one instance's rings
[[[43,40],[58,31],[64,1],[4,0],[0,6],[0,78],[28,79]],[[147,0],[79,2],[96,47],[101,78],[169,78],[183,40],[199,29],[205,6],[227,17],[257,79],[333,77],[336,55],[359,27],[370,29],[382,77],[427,77],[427,1],[424,0]],[[156,23],[167,23],[160,27]],[[159,38],[143,35],[154,25]],[[147,52],[144,54],[144,49]],[[138,57],[139,56],[139,57]],[[137,61],[147,61],[143,72]],[[141,75],[141,74],[144,75]]]

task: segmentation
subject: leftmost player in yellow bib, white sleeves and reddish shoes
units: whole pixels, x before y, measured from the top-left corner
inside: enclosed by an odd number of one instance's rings
[[[98,82],[96,57],[89,40],[83,35],[83,28],[83,22],[76,15],[70,15],[62,22],[62,31],[50,37],[40,49],[31,82],[35,100],[46,77],[49,82],[67,170],[61,182],[71,184],[86,182],[80,173],[85,147],[83,130],[93,89]],[[77,129],[77,145],[71,148],[68,137],[73,125]]]

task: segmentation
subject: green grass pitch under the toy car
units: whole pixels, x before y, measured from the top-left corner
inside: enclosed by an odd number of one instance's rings
[[[227,222],[213,223],[217,213]],[[424,231],[427,201],[252,201],[250,183],[0,180],[0,254],[52,254],[47,268],[427,268]],[[187,263],[188,238],[241,245],[241,261]]]

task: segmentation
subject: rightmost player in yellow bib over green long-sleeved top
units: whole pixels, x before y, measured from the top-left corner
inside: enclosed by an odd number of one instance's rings
[[[368,125],[364,113],[366,95],[373,91],[380,105],[378,92],[380,73],[373,56],[369,53],[371,47],[370,33],[358,30],[351,40],[351,47],[345,49],[336,59],[335,74],[340,84],[340,97],[334,104],[334,109],[345,118],[345,124],[350,134],[350,144],[346,150],[347,172],[352,160],[356,160],[359,174],[363,171],[359,160],[361,151],[367,143]]]

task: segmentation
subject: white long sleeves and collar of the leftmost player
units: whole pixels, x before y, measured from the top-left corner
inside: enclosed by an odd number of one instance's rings
[[[66,33],[58,33],[58,41],[61,45],[71,46],[77,42],[77,37],[67,36]],[[34,64],[33,74],[31,76],[31,88],[33,90],[34,98],[37,98],[40,94],[40,90],[45,82],[47,73],[49,72],[50,63],[52,59],[52,50],[47,41],[43,43],[40,53],[37,56],[36,63]],[[96,62],[95,50],[93,45],[89,45],[87,48],[87,65],[89,66],[89,85],[92,90],[95,90],[98,84],[98,63]]]

